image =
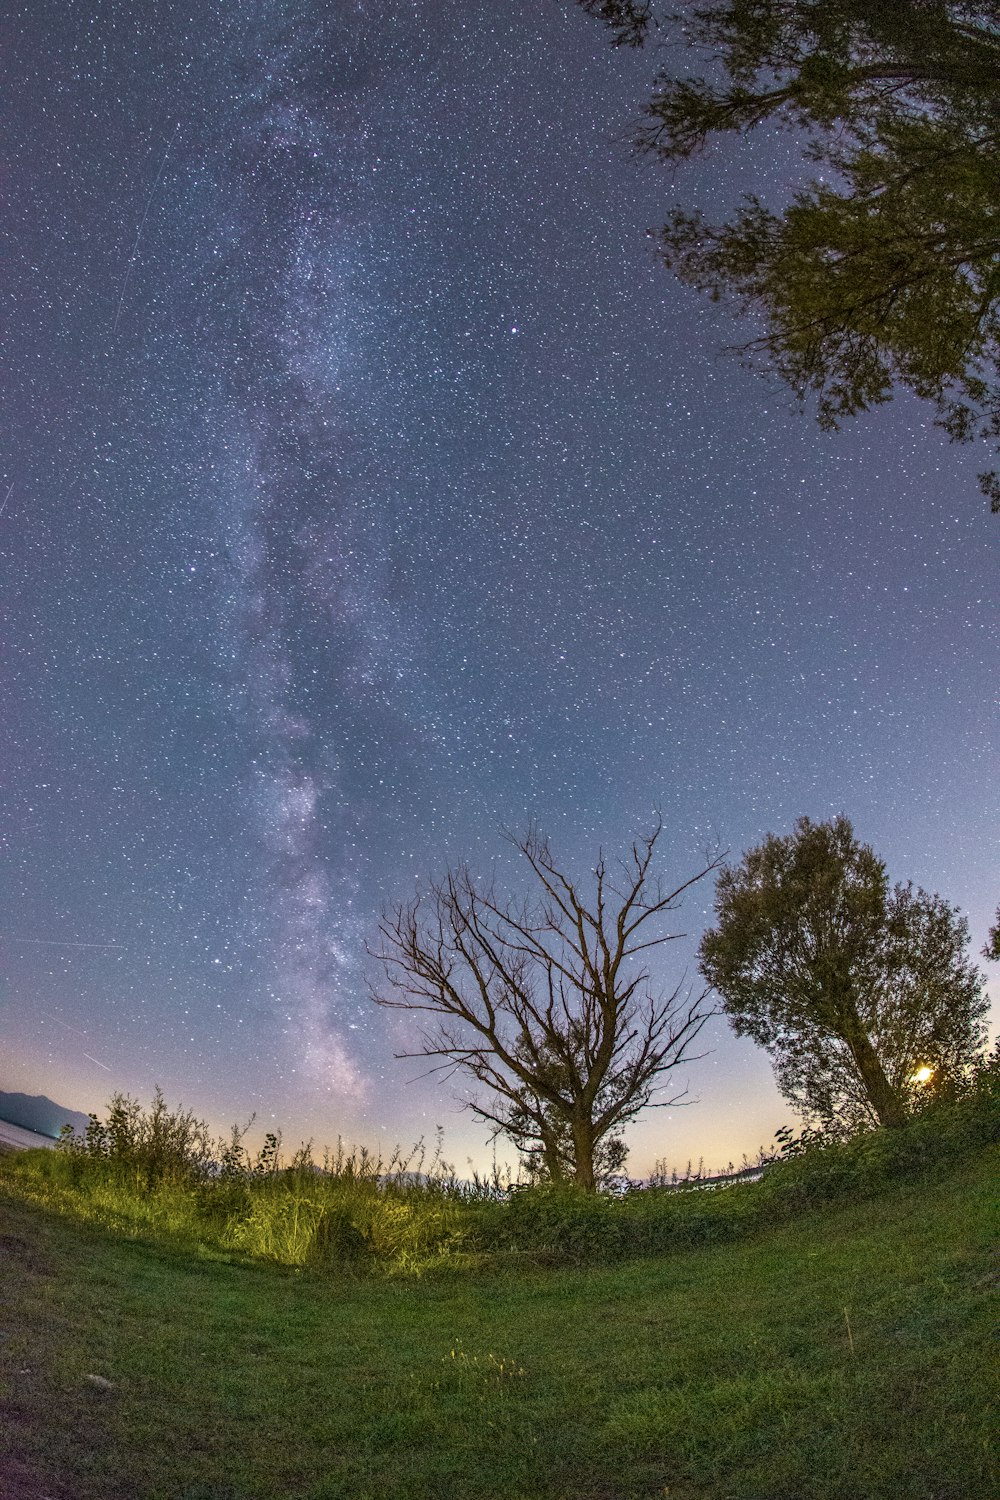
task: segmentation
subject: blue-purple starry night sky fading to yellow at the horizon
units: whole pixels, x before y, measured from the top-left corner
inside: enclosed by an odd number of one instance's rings
[[[532,819],[580,872],[658,807],[676,885],[844,812],[982,946],[982,454],[720,356],[648,231],[780,200],[795,142],[637,162],[654,63],[568,0],[7,12],[0,1088],[484,1164],[364,942],[462,858],[514,882]],[[634,1173],[790,1118],[709,1047]]]

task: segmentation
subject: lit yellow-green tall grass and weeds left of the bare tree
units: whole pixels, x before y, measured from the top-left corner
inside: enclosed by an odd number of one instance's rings
[[[213,1140],[204,1120],[169,1110],[159,1089],[148,1110],[114,1095],[106,1119],[63,1131],[54,1152],[9,1158],[4,1176],[33,1202],[202,1256],[396,1274],[454,1260],[469,1233],[469,1197],[507,1186],[496,1173],[459,1182],[439,1134],[433,1148],[421,1140],[388,1160],[339,1140],[316,1161],[310,1143],[286,1158],[279,1134],[252,1156],[250,1125]]]

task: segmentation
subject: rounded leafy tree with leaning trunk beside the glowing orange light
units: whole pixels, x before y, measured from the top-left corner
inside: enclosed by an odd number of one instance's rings
[[[781,1092],[825,1128],[900,1125],[922,1088],[975,1062],[988,1008],[969,927],[939,896],[889,891],[846,818],[768,836],[715,888],[702,974]]]

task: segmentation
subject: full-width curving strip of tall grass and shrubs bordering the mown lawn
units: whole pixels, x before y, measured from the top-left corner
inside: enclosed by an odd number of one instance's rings
[[[250,1124],[217,1142],[159,1090],[148,1110],[115,1095],[105,1120],[91,1116],[57,1150],[19,1154],[1,1170],[28,1200],[216,1258],[388,1275],[601,1263],[742,1239],[804,1209],[949,1170],[1000,1138],[1000,1070],[984,1068],[966,1098],[901,1130],[849,1142],[786,1136],[760,1180],[724,1188],[696,1180],[682,1191],[661,1182],[585,1194],[496,1172],[460,1182],[439,1136],[433,1149],[418,1142],[388,1161],[342,1142],[315,1161],[310,1144],[286,1160],[270,1134],[252,1156]]]

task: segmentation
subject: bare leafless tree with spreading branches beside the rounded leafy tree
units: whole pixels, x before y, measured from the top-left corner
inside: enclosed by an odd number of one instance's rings
[[[510,842],[528,861],[534,898],[511,902],[466,867],[423,900],[382,915],[387,986],[372,992],[391,1010],[435,1018],[417,1053],[445,1074],[483,1086],[466,1104],[549,1178],[594,1190],[621,1164],[621,1131],[654,1100],[663,1074],[693,1060],[690,1047],[714,1014],[708,990],[657,994],[645,956],[679,933],[655,921],[718,867],[721,855],[675,890],[652,876],[663,820],[609,872],[598,858],[589,897],[553,862],[546,838]],[[615,878],[616,876],[616,878]],[[652,926],[648,926],[652,924]]]

